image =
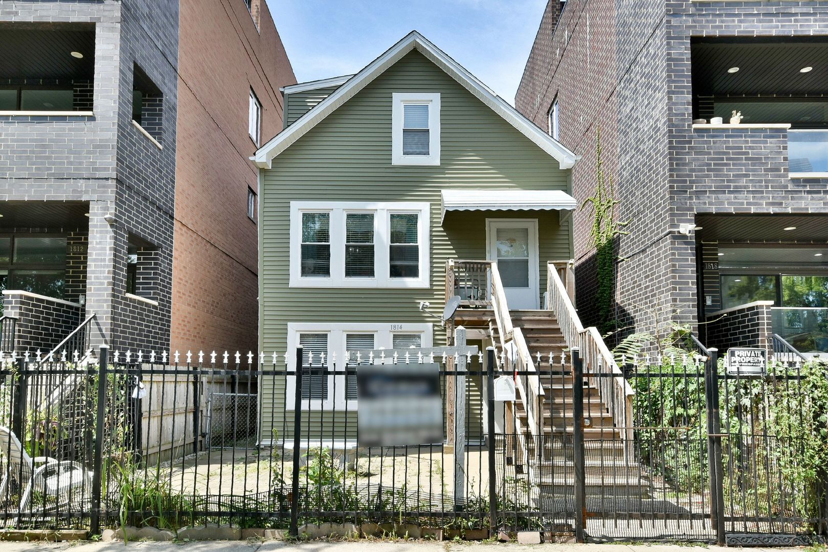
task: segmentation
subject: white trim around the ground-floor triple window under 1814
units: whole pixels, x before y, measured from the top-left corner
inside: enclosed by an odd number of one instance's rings
[[[316,322],[289,322],[287,324],[287,372],[296,372],[296,347],[299,344],[300,334],[328,334],[328,358],[325,359],[328,367],[334,367],[335,372],[344,372],[345,369],[345,334],[374,334],[374,348],[391,348],[394,334],[421,334],[421,347],[433,347],[432,324],[375,324],[375,323],[316,323]],[[336,360],[331,353],[336,353]],[[328,376],[328,399],[325,401],[310,399],[302,400],[303,410],[356,410],[357,401],[345,400],[345,376],[330,374]],[[336,378],[336,381],[334,381]],[[296,406],[296,376],[287,376],[285,385],[286,410],[294,410]]]

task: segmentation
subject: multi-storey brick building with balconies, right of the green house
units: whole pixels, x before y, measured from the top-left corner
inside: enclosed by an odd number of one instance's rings
[[[756,344],[828,351],[826,83],[828,2],[549,2],[516,106],[583,157],[580,201],[600,129],[629,221],[620,329],[678,320],[725,347],[742,324]],[[595,323],[589,209],[574,222],[578,304]]]

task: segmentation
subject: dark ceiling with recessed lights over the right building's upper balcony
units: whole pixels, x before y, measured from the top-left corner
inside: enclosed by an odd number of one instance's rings
[[[828,41],[728,39],[694,42],[693,94],[756,96],[828,94]],[[729,68],[739,67],[736,73]],[[813,67],[801,73],[803,67]]]

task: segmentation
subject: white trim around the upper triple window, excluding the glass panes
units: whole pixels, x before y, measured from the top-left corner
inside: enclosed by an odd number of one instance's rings
[[[345,214],[373,213],[373,278],[345,277]],[[330,277],[301,276],[302,213],[330,213]],[[416,278],[392,278],[388,266],[391,242],[391,214],[419,214],[420,275]],[[428,288],[431,287],[431,248],[429,247],[431,204],[362,203],[326,201],[291,201],[291,277],[290,287],[361,287],[361,288]]]

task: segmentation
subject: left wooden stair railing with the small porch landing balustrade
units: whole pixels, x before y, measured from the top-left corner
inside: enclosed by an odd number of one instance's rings
[[[449,259],[445,266],[446,300],[452,295],[460,295],[461,306],[489,307],[494,311],[501,350],[505,353],[509,350],[510,343],[514,345],[516,354],[513,362],[515,371],[519,372],[515,383],[527,413],[527,425],[532,435],[541,435],[545,393],[526,338],[521,329],[515,328],[512,323],[498,263]]]

